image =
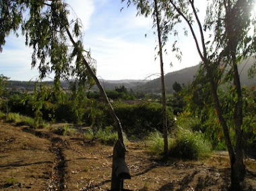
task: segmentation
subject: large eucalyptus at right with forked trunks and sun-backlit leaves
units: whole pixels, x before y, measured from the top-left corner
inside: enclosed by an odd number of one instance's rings
[[[231,166],[231,188],[240,190],[245,178],[243,163],[243,95],[238,73],[238,63],[255,55],[255,15],[251,11],[255,0],[208,1],[205,22],[199,17],[199,9],[193,0],[160,0],[169,33],[176,35],[177,24],[184,23],[195,41],[201,57],[201,67],[214,100],[216,114],[222,125]],[[163,26],[164,27],[164,26]],[[207,35],[210,33],[210,38]],[[185,31],[187,34],[187,31]],[[228,70],[228,73],[225,71]],[[226,118],[224,104],[218,95],[220,82],[231,83],[233,97],[232,123]],[[229,128],[234,128],[235,145],[232,145]]]

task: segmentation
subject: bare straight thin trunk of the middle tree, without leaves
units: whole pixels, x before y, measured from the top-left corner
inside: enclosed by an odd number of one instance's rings
[[[164,86],[164,63],[162,59],[162,40],[161,40],[161,30],[160,30],[160,18],[158,11],[158,2],[155,1],[155,11],[156,11],[156,26],[158,29],[158,45],[159,45],[159,55],[160,55],[160,69],[161,69],[161,85],[162,85],[162,131],[164,137],[164,155],[168,154],[168,132],[167,132],[167,114],[166,114],[166,94]]]

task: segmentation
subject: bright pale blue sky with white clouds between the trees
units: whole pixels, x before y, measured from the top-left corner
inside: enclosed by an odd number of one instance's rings
[[[127,8],[121,0],[66,0],[71,5],[71,16],[82,20],[84,47],[96,59],[96,75],[106,80],[154,79],[159,77],[160,62],[155,60],[158,44],[152,29],[152,19],[136,16],[136,8]],[[205,9],[206,3],[200,5]],[[124,9],[121,11],[121,8]],[[147,36],[145,37],[145,34]],[[172,41],[173,39],[170,39]],[[179,36],[183,52],[181,62],[166,44],[164,73],[178,71],[200,61],[191,35]],[[25,38],[10,34],[0,54],[0,74],[11,80],[29,81],[38,78],[37,68],[31,69],[32,49],[25,46]],[[170,67],[172,63],[172,67]]]

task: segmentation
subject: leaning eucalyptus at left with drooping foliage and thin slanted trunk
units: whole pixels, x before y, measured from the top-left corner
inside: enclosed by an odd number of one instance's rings
[[[98,86],[117,126],[123,143],[122,126],[95,73],[94,59],[82,43],[79,19],[69,20],[69,5],[61,0],[0,0],[0,48],[14,32],[26,36],[26,45],[33,48],[32,67],[38,67],[40,79],[55,72],[55,84],[75,77],[79,85]],[[3,50],[4,51],[4,50]]]

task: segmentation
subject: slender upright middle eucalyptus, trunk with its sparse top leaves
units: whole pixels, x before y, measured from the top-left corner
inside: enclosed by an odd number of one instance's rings
[[[121,0],[124,2],[125,0]],[[164,26],[162,22],[162,14],[161,14],[161,3],[159,0],[148,1],[127,1],[127,6],[129,7],[133,3],[137,5],[137,15],[144,15],[148,17],[148,15],[152,14],[154,24],[153,27],[156,28],[158,34],[158,55],[160,58],[160,73],[161,73],[161,88],[162,88],[162,132],[164,139],[164,155],[168,154],[168,121],[167,121],[167,112],[166,112],[166,90],[164,84],[164,61],[163,61],[163,47],[166,42],[166,32],[164,32]],[[166,26],[166,25],[165,25]]]

